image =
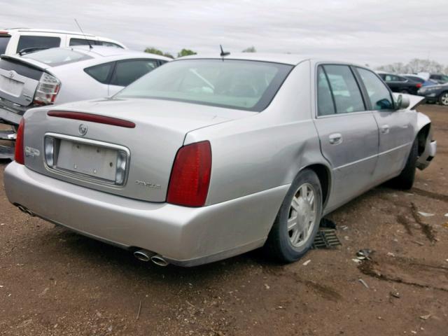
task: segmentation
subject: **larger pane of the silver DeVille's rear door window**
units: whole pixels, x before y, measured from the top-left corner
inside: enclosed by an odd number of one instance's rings
[[[365,111],[363,96],[349,66],[323,66],[335,99],[336,113]]]

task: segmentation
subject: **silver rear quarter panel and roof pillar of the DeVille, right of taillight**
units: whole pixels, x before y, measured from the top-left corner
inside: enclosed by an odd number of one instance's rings
[[[309,62],[297,64],[265,111],[187,134],[185,144],[211,142],[207,204],[288,185],[308,165],[328,166],[311,119],[309,78]]]

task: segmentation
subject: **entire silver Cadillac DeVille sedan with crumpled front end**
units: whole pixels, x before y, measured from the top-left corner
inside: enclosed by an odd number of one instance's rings
[[[436,149],[419,99],[353,64],[186,57],[113,97],[29,110],[6,193],[158,265],[260,246],[293,262],[322,216],[384,181],[412,187]]]

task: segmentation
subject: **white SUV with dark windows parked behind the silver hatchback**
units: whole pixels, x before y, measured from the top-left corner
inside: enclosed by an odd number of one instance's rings
[[[0,55],[15,55],[33,50],[76,45],[103,45],[125,49],[125,45],[110,38],[81,34],[79,31],[13,28],[0,29]]]

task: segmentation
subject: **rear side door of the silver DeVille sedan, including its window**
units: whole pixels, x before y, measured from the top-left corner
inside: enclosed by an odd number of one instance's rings
[[[350,66],[320,64],[314,120],[323,156],[332,167],[331,211],[374,186],[378,127]]]

